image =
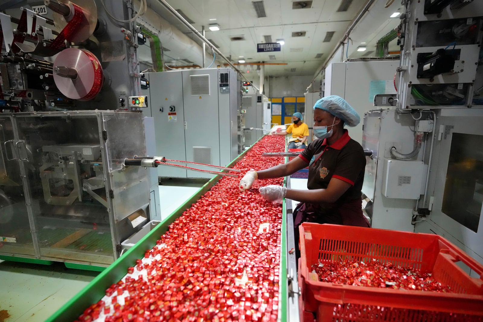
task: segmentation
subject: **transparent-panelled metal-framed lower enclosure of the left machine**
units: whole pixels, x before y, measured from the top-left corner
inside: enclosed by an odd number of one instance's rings
[[[148,170],[122,164],[146,154],[141,113],[15,113],[1,120],[1,195],[8,201],[0,209],[2,259],[108,266],[121,242],[155,216]]]

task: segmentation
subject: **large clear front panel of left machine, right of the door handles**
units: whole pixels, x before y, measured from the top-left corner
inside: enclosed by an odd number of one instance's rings
[[[112,263],[95,113],[27,114],[16,116],[15,122],[41,258]]]

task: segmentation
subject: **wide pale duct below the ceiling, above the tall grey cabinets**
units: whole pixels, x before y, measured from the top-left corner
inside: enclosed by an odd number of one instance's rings
[[[139,1],[134,1],[136,7]],[[156,33],[163,47],[170,50],[170,56],[177,59],[188,59],[196,65],[203,66],[203,49],[198,43],[186,36],[178,28],[173,27],[168,21],[161,18],[151,8],[147,8],[145,14],[138,18],[138,21],[152,29]],[[209,49],[210,50],[210,49]],[[213,61],[213,56],[206,55],[207,61]]]

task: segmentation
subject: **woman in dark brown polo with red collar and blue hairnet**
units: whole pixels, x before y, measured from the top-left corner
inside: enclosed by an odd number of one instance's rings
[[[313,109],[313,132],[318,139],[288,163],[250,170],[240,181],[240,190],[250,189],[256,179],[288,176],[309,165],[309,190],[278,185],[259,188],[269,201],[281,202],[284,197],[300,201],[294,211],[296,238],[298,226],[303,222],[370,227],[362,214],[364,150],[344,129],[344,125],[359,124],[360,117],[347,101],[336,95],[319,99]]]

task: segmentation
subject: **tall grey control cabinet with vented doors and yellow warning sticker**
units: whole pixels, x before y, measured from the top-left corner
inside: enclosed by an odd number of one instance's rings
[[[175,70],[147,77],[157,156],[226,166],[238,155],[234,70]],[[160,166],[158,176],[212,178],[213,174]]]

